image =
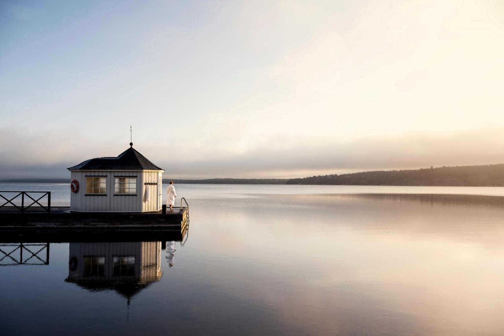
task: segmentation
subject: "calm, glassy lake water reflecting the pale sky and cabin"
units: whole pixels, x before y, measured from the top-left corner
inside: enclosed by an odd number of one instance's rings
[[[182,241],[0,252],[0,333],[504,334],[504,188],[175,187]],[[69,205],[68,184],[0,190]]]

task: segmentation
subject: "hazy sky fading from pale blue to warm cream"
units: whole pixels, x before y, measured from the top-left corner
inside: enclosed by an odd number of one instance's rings
[[[0,0],[0,179],[504,162],[504,2]]]

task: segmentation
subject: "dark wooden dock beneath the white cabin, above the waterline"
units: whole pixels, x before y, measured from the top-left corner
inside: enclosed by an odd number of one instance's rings
[[[0,232],[7,231],[181,231],[188,224],[187,207],[158,212],[75,212],[70,207],[29,207],[21,212],[14,206],[0,208]]]

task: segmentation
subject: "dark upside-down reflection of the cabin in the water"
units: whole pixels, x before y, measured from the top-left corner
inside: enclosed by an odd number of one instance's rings
[[[128,299],[161,279],[161,242],[70,243],[66,282]]]

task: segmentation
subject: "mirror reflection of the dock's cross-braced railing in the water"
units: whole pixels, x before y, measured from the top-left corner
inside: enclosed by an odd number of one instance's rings
[[[33,252],[29,249],[32,247],[41,248],[37,252]],[[15,247],[12,251],[4,251],[7,248]],[[43,250],[46,250],[45,260],[43,260],[39,253]],[[19,250],[19,258],[17,257],[18,253],[14,254],[14,252]],[[23,257],[23,251],[28,252],[28,257],[25,259]],[[25,252],[25,253],[26,253]],[[26,254],[25,254],[26,255]],[[40,262],[30,262],[32,258],[34,260],[38,259]],[[10,263],[5,263],[4,260],[11,261]],[[44,244],[35,244],[35,243],[15,243],[15,244],[0,244],[0,266],[15,266],[15,265],[48,265],[49,264],[49,243]]]

